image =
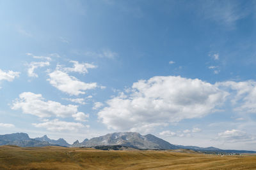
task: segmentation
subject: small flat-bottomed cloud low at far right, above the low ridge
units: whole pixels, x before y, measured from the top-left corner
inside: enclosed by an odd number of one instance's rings
[[[239,131],[237,129],[232,129],[230,131],[220,132],[218,134],[218,139],[222,139],[227,143],[236,143],[243,141],[252,141],[255,138],[247,134],[246,132]]]

